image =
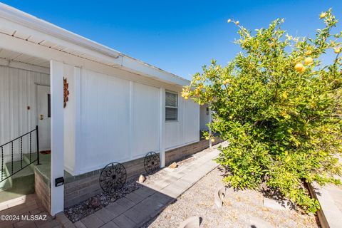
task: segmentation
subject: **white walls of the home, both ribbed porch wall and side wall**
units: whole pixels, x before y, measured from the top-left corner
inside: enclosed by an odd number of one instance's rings
[[[78,175],[109,162],[125,162],[150,151],[160,152],[157,83],[133,82],[67,64],[64,75],[70,92],[64,109],[64,165],[68,172]],[[76,90],[78,83],[80,88]],[[49,86],[49,75],[0,66],[1,145],[36,127],[37,84]],[[167,90],[180,92],[176,86]],[[178,100],[178,121],[165,123],[165,150],[199,140],[199,106],[180,95]],[[28,152],[28,139],[23,145],[24,152]],[[33,136],[33,151],[35,146]],[[9,148],[4,150],[5,162],[11,158]],[[14,159],[19,159],[19,143],[14,144]]]

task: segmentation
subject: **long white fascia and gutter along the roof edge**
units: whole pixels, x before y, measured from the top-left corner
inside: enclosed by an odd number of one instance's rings
[[[63,45],[65,45],[66,43],[70,43],[73,47],[78,46],[77,51],[84,51],[88,54],[91,54],[90,52],[93,52],[94,56],[98,56],[98,54],[100,54],[101,56],[103,55],[107,57],[106,61],[110,59],[111,62],[113,62],[113,66],[116,65],[120,68],[123,68],[124,70],[140,73],[142,75],[146,75],[157,80],[160,79],[161,81],[166,81],[168,83],[174,83],[179,86],[186,86],[190,83],[190,81],[185,78],[181,78],[180,76],[176,76],[175,74],[163,71],[160,68],[151,66],[150,64],[144,63],[138,59],[126,56],[119,51],[115,51],[113,48],[109,48],[100,43],[96,43],[95,41],[91,41],[88,38],[79,36],[76,33],[72,33],[71,31],[58,27],[47,21],[38,19],[35,16],[27,14],[3,3],[0,3],[0,18],[32,29],[33,31],[38,31],[38,33],[45,33],[49,36],[52,36],[53,38],[56,38],[54,40],[55,42],[58,40],[64,41],[62,42]]]

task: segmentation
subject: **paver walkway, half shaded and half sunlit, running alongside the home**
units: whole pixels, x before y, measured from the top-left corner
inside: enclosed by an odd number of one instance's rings
[[[160,180],[141,187],[74,224],[64,214],[58,214],[57,217],[64,227],[141,227],[142,224],[162,212],[162,209],[174,202],[204,175],[214,170],[217,163],[213,159],[218,155],[217,149],[208,148],[201,157],[175,170],[170,170]]]

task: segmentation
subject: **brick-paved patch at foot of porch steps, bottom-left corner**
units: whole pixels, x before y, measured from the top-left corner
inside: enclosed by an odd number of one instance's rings
[[[62,224],[46,212],[36,194],[11,199],[0,204],[1,228],[55,228]]]

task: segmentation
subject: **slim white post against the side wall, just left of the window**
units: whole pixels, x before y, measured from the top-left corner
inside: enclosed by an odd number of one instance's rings
[[[159,155],[160,167],[165,167],[165,88],[159,89],[160,112],[159,112]]]

